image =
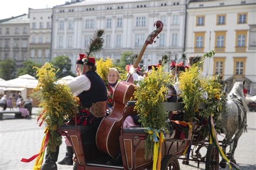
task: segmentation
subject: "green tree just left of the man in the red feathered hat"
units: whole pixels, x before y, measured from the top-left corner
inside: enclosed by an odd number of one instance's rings
[[[59,69],[59,72],[56,73],[58,78],[68,75],[75,76],[70,70],[71,60],[68,56],[56,56],[56,58],[51,60],[51,63],[56,70]]]

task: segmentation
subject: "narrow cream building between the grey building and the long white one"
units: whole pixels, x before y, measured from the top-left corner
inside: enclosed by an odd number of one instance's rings
[[[29,59],[44,64],[51,60],[52,9],[29,9]]]

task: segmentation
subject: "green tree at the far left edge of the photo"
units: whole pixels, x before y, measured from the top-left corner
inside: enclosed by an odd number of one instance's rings
[[[14,60],[6,59],[0,61],[0,77],[4,80],[11,80],[15,78],[16,63]]]

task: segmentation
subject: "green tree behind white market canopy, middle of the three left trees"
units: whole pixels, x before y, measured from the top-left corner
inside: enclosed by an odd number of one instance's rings
[[[17,71],[18,76],[24,75],[24,74],[36,76],[36,69],[33,69],[33,67],[41,67],[41,65],[31,60],[24,61],[22,64],[24,67],[18,69]]]

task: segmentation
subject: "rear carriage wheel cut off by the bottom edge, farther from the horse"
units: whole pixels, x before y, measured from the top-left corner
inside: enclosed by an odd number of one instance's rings
[[[166,155],[161,161],[161,170],[179,170],[179,161],[173,155]]]

